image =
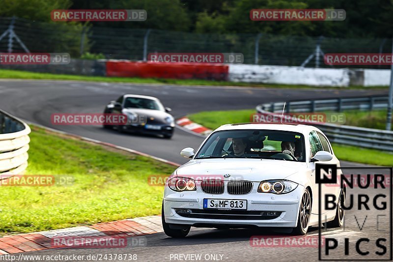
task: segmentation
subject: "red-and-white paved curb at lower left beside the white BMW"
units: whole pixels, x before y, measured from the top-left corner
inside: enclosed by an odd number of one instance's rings
[[[80,226],[65,229],[56,229],[51,231],[42,231],[34,233],[24,233],[0,237],[0,255],[24,253],[54,248],[121,248],[134,245],[134,241],[127,241],[130,237],[139,241],[135,241],[135,245],[146,245],[146,240],[140,241],[140,236],[161,233],[162,229],[161,216],[146,216],[133,219],[124,219],[106,223],[98,223],[92,226]],[[56,246],[57,241],[74,241],[74,246],[64,247]],[[99,241],[106,242],[108,240],[118,241],[123,239],[122,246],[81,246],[81,242]],[[77,240],[77,241],[76,241]],[[80,243],[78,245],[78,242]],[[138,244],[140,243],[140,244]]]

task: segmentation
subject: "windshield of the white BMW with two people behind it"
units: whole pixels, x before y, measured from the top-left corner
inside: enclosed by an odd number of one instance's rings
[[[305,162],[304,137],[278,130],[227,130],[210,136],[196,159],[260,158]]]

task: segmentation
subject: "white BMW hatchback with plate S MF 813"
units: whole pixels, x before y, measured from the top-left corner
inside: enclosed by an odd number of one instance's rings
[[[191,227],[280,227],[306,234],[318,225],[315,164],[339,167],[326,136],[308,125],[226,124],[196,152],[188,147],[180,154],[191,160],[168,178],[162,207],[171,237],[184,237]],[[341,227],[344,190],[321,189],[322,196],[337,199],[334,210],[320,203],[323,221]]]

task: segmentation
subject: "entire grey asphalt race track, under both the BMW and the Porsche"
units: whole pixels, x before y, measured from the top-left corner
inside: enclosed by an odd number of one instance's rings
[[[173,109],[173,116],[180,117],[189,113],[210,110],[252,109],[257,104],[289,99],[311,99],[325,97],[348,97],[387,94],[387,90],[337,90],[337,89],[281,89],[281,88],[245,88],[245,87],[191,87],[167,85],[134,85],[108,84],[91,82],[66,81],[7,81],[0,82],[0,109],[10,114],[39,123],[51,128],[70,132],[76,135],[132,148],[144,153],[167,159],[176,163],[185,163],[179,152],[182,148],[191,146],[197,148],[202,137],[190,134],[176,128],[171,140],[119,134],[116,131],[104,130],[99,126],[53,126],[53,113],[102,113],[110,100],[124,93],[152,95],[161,99],[163,104]],[[342,166],[361,166],[342,163]],[[355,171],[354,171],[355,172]],[[361,171],[359,171],[361,172]],[[360,189],[354,189],[358,192]],[[359,192],[358,192],[359,193]],[[374,190],[368,192],[370,199],[377,194]],[[392,203],[390,202],[390,206]],[[363,215],[366,213],[363,213]],[[354,223],[357,215],[362,224],[364,216],[359,211],[349,210],[346,216],[350,219],[345,230],[328,229],[325,236],[334,236],[343,241],[344,237],[376,238],[381,233],[378,230],[389,230],[389,222],[382,223],[376,228],[375,216],[368,218],[363,231]],[[185,239],[173,239],[164,233],[147,235],[147,245],[144,247],[127,247],[121,249],[56,249],[28,253],[30,255],[88,255],[88,254],[137,254],[138,261],[180,261],[171,254],[201,254],[218,255],[219,261],[317,261],[318,248],[261,248],[250,246],[253,235],[282,235],[268,229],[260,230],[216,230],[192,229]],[[314,228],[309,235],[318,235]],[[371,243],[371,242],[370,242]],[[355,257],[354,242],[350,240],[350,258]],[[340,242],[342,248],[343,243]],[[362,244],[363,245],[363,244]],[[367,246],[367,245],[365,245]],[[387,242],[386,246],[391,246]],[[370,248],[374,248],[373,243]],[[373,249],[373,250],[374,250]],[[389,252],[389,250],[388,250]],[[222,257],[220,256],[222,255]],[[375,257],[373,257],[375,258]],[[184,259],[184,257],[183,257]],[[334,258],[332,258],[334,259]]]

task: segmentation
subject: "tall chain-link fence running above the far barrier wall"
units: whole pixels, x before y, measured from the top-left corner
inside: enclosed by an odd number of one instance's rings
[[[130,27],[132,23],[130,23]],[[12,29],[14,36],[5,33]],[[3,35],[1,35],[3,34]],[[2,36],[2,37],[1,37]],[[0,18],[0,52],[85,52],[109,59],[143,60],[149,53],[242,53],[244,63],[330,67],[327,53],[391,53],[392,39],[339,39],[275,34],[201,34],[156,29],[115,29],[77,23],[42,23]],[[20,41],[26,46],[23,48]],[[312,54],[316,55],[312,58]],[[308,60],[309,58],[309,60]],[[305,64],[305,61],[308,61]],[[348,67],[337,66],[334,67]],[[389,65],[349,66],[389,68]]]

